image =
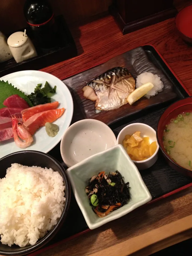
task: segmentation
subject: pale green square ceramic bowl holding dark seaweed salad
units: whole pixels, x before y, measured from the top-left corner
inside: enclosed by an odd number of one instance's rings
[[[99,218],[92,210],[85,187],[93,175],[100,171],[107,174],[118,170],[125,183],[130,183],[130,200],[121,208]],[[141,174],[122,145],[116,145],[108,150],[95,154],[67,169],[75,199],[90,229],[95,229],[109,221],[120,218],[137,207],[149,202],[151,194],[147,189]]]

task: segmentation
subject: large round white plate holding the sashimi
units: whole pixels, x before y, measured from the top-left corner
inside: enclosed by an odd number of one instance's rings
[[[0,80],[12,83],[14,87],[17,87],[26,94],[34,92],[38,83],[42,83],[43,86],[47,81],[51,87],[54,87],[55,85],[57,86],[55,95],[51,97],[51,102],[58,101],[58,108],[65,108],[65,113],[54,122],[59,126],[58,134],[55,137],[49,137],[45,131],[45,127],[41,127],[33,135],[33,144],[25,149],[37,150],[44,153],[49,152],[59,143],[59,141],[61,141],[63,133],[70,126],[73,116],[73,99],[67,86],[54,75],[37,70],[15,72],[1,77]],[[21,150],[23,149],[16,146],[14,139],[0,142],[0,158]]]

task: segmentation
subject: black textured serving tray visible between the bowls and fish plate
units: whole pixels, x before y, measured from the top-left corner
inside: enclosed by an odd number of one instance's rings
[[[145,50],[150,61],[153,62],[160,70],[162,70],[166,77],[173,83],[175,91],[177,92],[177,98],[173,99],[172,102],[188,97],[189,95],[183,86],[178,82],[171,70],[166,66],[165,62],[159,56],[157,51],[152,46],[143,46],[143,49]],[[165,104],[161,103],[155,106],[153,109],[144,109],[142,112],[131,115],[129,118],[124,118],[121,121],[110,125],[110,128],[114,131],[116,136],[123,127],[135,122],[146,123],[147,125],[150,125],[156,129],[159,117],[162,115],[166,107],[168,107],[172,102],[166,102]],[[73,122],[79,120],[80,118],[81,113],[75,112]],[[65,163],[63,163],[60,155],[60,143],[53,150],[51,150],[49,154],[58,159],[58,161],[60,161],[67,169],[67,166]],[[185,177],[179,174],[177,171],[171,169],[171,167],[167,165],[160,150],[157,162],[149,169],[141,171],[141,176],[151,193],[152,199],[161,197],[192,182],[191,178]],[[63,225],[63,228],[61,227],[61,230],[55,236],[55,238],[51,240],[49,245],[62,241],[63,239],[80,233],[86,229],[88,229],[88,226],[72,192],[70,210],[65,224]]]

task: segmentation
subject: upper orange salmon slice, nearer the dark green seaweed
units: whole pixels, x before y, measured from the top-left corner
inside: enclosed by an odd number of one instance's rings
[[[46,103],[46,104],[43,104],[43,105],[37,105],[37,106],[34,106],[34,107],[30,107],[28,109],[23,109],[21,111],[23,121],[26,122],[27,119],[29,119],[30,117],[32,117],[33,115],[35,115],[37,113],[47,111],[47,110],[51,110],[51,109],[56,109],[58,107],[58,105],[59,105],[59,102],[55,101],[55,102]]]

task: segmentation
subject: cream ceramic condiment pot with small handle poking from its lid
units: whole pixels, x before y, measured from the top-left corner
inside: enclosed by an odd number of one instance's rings
[[[25,32],[15,32],[7,39],[15,61],[21,62],[37,56],[35,47]]]

